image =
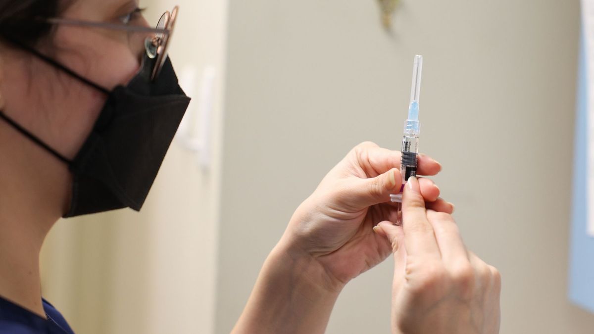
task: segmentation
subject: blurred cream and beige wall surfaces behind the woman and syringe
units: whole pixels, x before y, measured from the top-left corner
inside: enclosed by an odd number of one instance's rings
[[[501,333],[592,333],[567,298],[578,0],[144,0],[179,4],[194,97],[144,205],[62,220],[43,291],[80,333],[228,333],[293,210],[356,144],[399,149],[424,55],[421,150],[469,248],[500,269]],[[393,262],[327,333],[389,333]]]

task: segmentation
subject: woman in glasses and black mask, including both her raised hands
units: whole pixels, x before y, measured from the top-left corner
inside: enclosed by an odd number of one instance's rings
[[[189,99],[127,0],[0,0],[0,333],[72,333],[42,300],[39,251],[61,218],[140,210]],[[322,333],[351,279],[394,254],[394,333],[497,333],[500,276],[466,250],[429,179],[355,147],[295,211],[234,333]],[[419,156],[419,174],[439,163]]]

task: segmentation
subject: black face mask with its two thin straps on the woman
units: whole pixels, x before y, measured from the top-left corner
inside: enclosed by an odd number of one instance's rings
[[[23,45],[20,45],[23,48]],[[65,218],[130,207],[140,210],[189,104],[169,59],[151,81],[154,59],[144,55],[127,86],[112,91],[27,48],[83,83],[108,94],[93,130],[74,160],[68,160],[0,111],[0,118],[68,164],[74,179]]]

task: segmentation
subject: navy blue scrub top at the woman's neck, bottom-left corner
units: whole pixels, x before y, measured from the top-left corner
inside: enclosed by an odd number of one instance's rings
[[[62,314],[46,300],[43,310],[48,319],[0,297],[0,334],[74,334]]]

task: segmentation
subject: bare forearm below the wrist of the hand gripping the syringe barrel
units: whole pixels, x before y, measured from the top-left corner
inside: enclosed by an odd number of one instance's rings
[[[342,288],[326,283],[326,273],[314,259],[279,243],[232,333],[324,333]]]

